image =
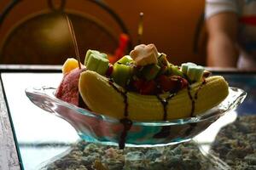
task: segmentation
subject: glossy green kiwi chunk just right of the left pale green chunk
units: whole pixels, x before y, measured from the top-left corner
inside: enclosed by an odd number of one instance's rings
[[[113,82],[119,84],[119,86],[125,87],[131,77],[131,73],[132,67],[130,65],[123,65],[117,62],[113,65]]]

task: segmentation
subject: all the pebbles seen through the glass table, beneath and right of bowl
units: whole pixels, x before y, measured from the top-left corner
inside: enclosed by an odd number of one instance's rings
[[[65,170],[189,170],[189,169],[256,169],[256,116],[241,116],[224,127],[204,156],[198,144],[129,148],[90,144],[80,141],[67,155],[49,161],[41,169]],[[219,159],[220,158],[220,159]],[[222,161],[221,161],[222,160]],[[224,161],[224,162],[223,162]]]

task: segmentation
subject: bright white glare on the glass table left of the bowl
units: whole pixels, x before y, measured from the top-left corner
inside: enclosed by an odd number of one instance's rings
[[[42,84],[56,87],[61,74],[3,73],[3,86],[9,101],[9,111],[15,127],[20,156],[25,169],[35,169],[67,150],[79,139],[66,121],[41,110],[26,98],[25,88]]]

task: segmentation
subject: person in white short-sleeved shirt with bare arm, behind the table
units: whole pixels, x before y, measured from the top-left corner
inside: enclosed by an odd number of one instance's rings
[[[207,65],[256,69],[256,0],[206,0]]]

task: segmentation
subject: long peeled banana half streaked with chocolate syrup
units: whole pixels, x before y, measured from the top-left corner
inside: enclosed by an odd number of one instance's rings
[[[91,111],[117,119],[163,121],[196,116],[218,105],[229,94],[224,77],[207,77],[177,94],[141,95],[126,92],[95,71],[84,71],[79,78],[79,93]]]

